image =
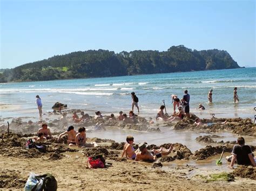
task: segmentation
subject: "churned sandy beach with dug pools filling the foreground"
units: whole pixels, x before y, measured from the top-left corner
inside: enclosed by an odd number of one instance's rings
[[[69,110],[70,117],[73,110]],[[252,189],[256,185],[256,168],[235,165],[227,168],[224,159],[230,155],[235,140],[244,136],[255,154],[256,126],[251,119],[210,118],[202,119],[203,123],[214,123],[210,127],[193,125],[194,117],[178,123],[162,123],[149,126],[146,120],[139,117],[136,125],[123,125],[116,121],[106,124],[106,131],[87,132],[87,142],[96,142],[95,148],[69,147],[66,139],[57,141],[57,136],[64,131],[59,122],[60,115],[46,114],[45,122],[53,133],[53,139],[46,143],[46,150],[39,152],[35,148],[25,150],[25,141],[35,137],[42,122],[28,125],[28,117],[2,118],[1,124],[10,123],[10,135],[7,137],[6,125],[1,126],[3,140],[0,140],[1,189],[23,189],[30,172],[52,173],[58,182],[59,190],[80,189]],[[227,120],[228,124],[220,125]],[[34,120],[35,121],[35,120]],[[86,126],[89,130],[97,121],[74,123],[75,129]],[[159,130],[158,130],[159,129]],[[170,131],[180,139],[164,139],[163,142],[153,137],[167,136]],[[116,135],[114,135],[116,133]],[[177,133],[177,134],[175,134]],[[183,140],[181,134],[184,133]],[[191,138],[188,135],[191,134]],[[106,137],[96,138],[105,134]],[[96,135],[96,136],[95,136]],[[113,135],[112,138],[110,135]],[[133,135],[138,148],[141,140],[149,140],[147,148],[168,148],[173,151],[153,163],[121,159],[125,136]],[[94,138],[93,138],[94,137]],[[119,138],[118,138],[119,137]],[[123,140],[116,142],[115,140]],[[160,138],[161,139],[161,138]],[[186,140],[187,139],[187,140]],[[180,140],[180,141],[178,141]],[[152,144],[155,143],[155,144]],[[187,143],[187,144],[185,144]],[[190,143],[190,144],[188,144]],[[223,165],[216,165],[221,152],[225,149]],[[103,154],[112,165],[107,168],[92,169],[86,166],[87,158],[93,154]]]

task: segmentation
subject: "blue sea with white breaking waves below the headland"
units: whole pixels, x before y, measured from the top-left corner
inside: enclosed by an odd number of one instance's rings
[[[249,117],[254,119],[256,68],[209,70],[92,79],[37,81],[0,84],[0,106],[4,117],[38,117],[36,95],[42,98],[43,112],[52,111],[55,102],[68,104],[68,109],[81,109],[89,115],[103,115],[131,110],[131,92],[139,98],[140,115],[155,117],[163,100],[167,113],[173,112],[171,95],[179,98],[184,90],[190,94],[190,111],[201,118]],[[237,87],[239,103],[233,103]],[[207,94],[213,89],[213,103]],[[206,110],[199,111],[199,103]],[[134,108],[137,113],[137,108]]]

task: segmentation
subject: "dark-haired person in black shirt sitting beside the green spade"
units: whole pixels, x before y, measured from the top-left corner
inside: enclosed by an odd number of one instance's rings
[[[253,153],[251,147],[245,145],[245,139],[243,137],[238,137],[237,139],[238,145],[233,147],[231,152],[231,156],[226,157],[226,160],[231,162],[228,165],[228,168],[233,168],[235,161],[237,161],[238,165],[252,165],[256,167],[256,158],[253,158]]]

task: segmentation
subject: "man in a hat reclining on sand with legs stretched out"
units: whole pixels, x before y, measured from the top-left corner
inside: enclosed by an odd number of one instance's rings
[[[139,144],[139,151],[136,154],[136,161],[139,160],[143,160],[143,161],[149,161],[149,162],[153,162],[155,161],[157,158],[165,156],[169,153],[172,152],[173,146],[171,145],[169,149],[165,149],[163,147],[161,147],[159,150],[152,150],[152,151],[148,151],[146,148],[146,144],[145,143],[140,143]]]

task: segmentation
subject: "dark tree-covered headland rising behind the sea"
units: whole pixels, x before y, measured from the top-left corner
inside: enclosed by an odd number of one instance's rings
[[[192,50],[183,45],[167,51],[114,53],[98,49],[56,55],[0,71],[0,82],[42,81],[138,74],[240,68],[227,51]]]

